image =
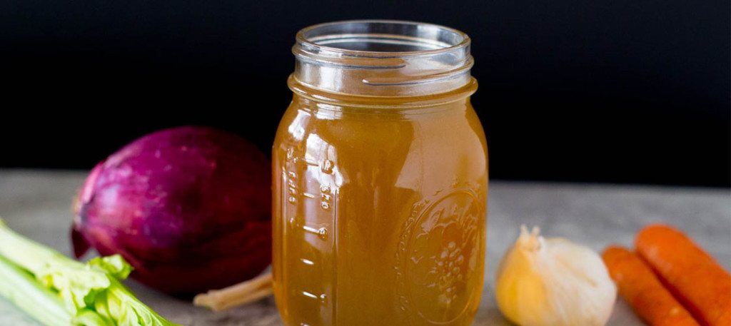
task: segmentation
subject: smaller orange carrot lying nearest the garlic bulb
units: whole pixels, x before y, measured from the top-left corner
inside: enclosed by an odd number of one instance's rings
[[[619,294],[635,313],[653,326],[698,326],[693,316],[662,286],[652,270],[636,254],[610,246],[602,254]]]

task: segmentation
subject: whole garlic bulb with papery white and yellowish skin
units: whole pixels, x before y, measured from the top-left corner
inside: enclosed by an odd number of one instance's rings
[[[500,311],[521,326],[605,325],[617,288],[599,254],[564,238],[520,227],[496,284]]]

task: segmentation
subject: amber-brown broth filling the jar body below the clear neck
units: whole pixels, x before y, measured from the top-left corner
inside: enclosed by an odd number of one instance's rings
[[[488,178],[476,87],[419,107],[295,91],[273,147],[274,289],[286,325],[471,324]]]

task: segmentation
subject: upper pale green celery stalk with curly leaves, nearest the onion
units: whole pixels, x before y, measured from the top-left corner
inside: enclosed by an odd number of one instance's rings
[[[71,316],[71,325],[175,325],[137,300],[121,283],[132,271],[132,266],[119,255],[98,257],[83,264],[24,238],[0,219],[0,256],[29,273],[26,281],[34,279],[41,287],[55,293]],[[0,279],[0,283],[9,282]],[[5,284],[4,287],[12,286]],[[26,284],[24,287],[33,286]],[[23,295],[16,293],[11,291],[10,296]],[[0,295],[9,296],[4,292]]]

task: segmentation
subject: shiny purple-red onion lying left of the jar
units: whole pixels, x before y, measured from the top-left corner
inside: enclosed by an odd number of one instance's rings
[[[174,295],[257,276],[271,262],[270,169],[254,145],[216,129],[141,137],[80,189],[75,254],[121,254],[138,281]]]

